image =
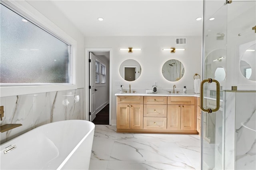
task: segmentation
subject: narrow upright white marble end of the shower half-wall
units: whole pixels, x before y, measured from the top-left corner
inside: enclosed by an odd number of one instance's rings
[[[236,93],[226,92],[225,99],[225,169],[235,168]]]

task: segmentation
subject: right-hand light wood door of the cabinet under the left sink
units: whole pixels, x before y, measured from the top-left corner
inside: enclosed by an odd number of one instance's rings
[[[130,105],[130,128],[143,129],[143,105]]]

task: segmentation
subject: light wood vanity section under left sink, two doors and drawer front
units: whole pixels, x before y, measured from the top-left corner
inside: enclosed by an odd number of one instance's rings
[[[143,96],[117,97],[116,128],[143,128]]]

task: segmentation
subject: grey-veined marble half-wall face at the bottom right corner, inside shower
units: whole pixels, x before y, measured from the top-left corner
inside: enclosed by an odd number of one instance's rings
[[[236,169],[256,169],[256,93],[236,93]]]

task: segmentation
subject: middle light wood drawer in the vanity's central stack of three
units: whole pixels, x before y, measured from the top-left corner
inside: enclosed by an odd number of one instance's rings
[[[144,105],[144,117],[166,117],[167,105]]]

